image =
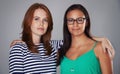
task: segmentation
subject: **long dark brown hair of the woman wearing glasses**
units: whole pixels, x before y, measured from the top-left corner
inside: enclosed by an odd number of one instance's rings
[[[69,50],[70,45],[71,45],[71,34],[68,30],[67,27],[67,14],[72,11],[72,10],[79,10],[82,11],[83,14],[85,15],[86,18],[86,26],[85,26],[85,35],[87,37],[89,37],[90,39],[93,39],[91,34],[90,34],[90,17],[88,14],[88,11],[86,10],[85,7],[83,7],[81,4],[73,4],[71,5],[65,12],[64,15],[64,22],[63,22],[63,46],[60,48],[59,51],[59,60],[58,60],[58,64],[60,63],[60,61],[62,60],[63,56],[65,56],[66,52]]]

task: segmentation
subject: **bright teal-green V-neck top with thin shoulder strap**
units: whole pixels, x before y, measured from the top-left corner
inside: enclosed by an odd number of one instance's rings
[[[97,42],[91,50],[75,60],[64,56],[60,65],[60,74],[101,74],[100,63],[94,52],[96,44]]]

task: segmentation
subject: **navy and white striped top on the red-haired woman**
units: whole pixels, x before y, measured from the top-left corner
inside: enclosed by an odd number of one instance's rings
[[[26,44],[15,44],[10,49],[10,74],[56,74],[57,49],[62,40],[52,40],[53,47],[50,56],[45,55],[46,50],[42,43],[38,46],[39,54],[31,53]]]

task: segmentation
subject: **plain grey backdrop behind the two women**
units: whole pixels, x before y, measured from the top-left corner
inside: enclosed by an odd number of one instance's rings
[[[44,3],[52,12],[54,40],[62,39],[63,15],[68,6],[84,5],[91,17],[92,34],[107,37],[115,48],[114,73],[120,74],[120,0],[0,0],[0,74],[9,72],[10,43],[20,38],[23,16],[35,2]]]

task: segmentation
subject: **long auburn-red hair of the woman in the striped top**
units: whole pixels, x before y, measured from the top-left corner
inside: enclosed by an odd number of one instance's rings
[[[26,14],[24,16],[24,19],[23,19],[23,23],[22,23],[22,28],[23,28],[22,40],[27,44],[28,49],[31,52],[39,53],[36,46],[33,43],[32,31],[31,31],[31,24],[32,24],[32,20],[33,20],[33,14],[34,14],[35,10],[39,9],[39,8],[43,9],[47,13],[47,17],[48,17],[48,28],[47,28],[46,33],[44,35],[42,35],[42,37],[40,39],[40,42],[43,43],[44,48],[47,51],[46,55],[50,55],[51,52],[52,52],[52,47],[50,45],[50,39],[51,39],[51,31],[53,29],[53,20],[52,20],[52,16],[51,16],[51,13],[50,13],[49,9],[44,4],[34,3],[27,10],[27,12],[26,12]]]

